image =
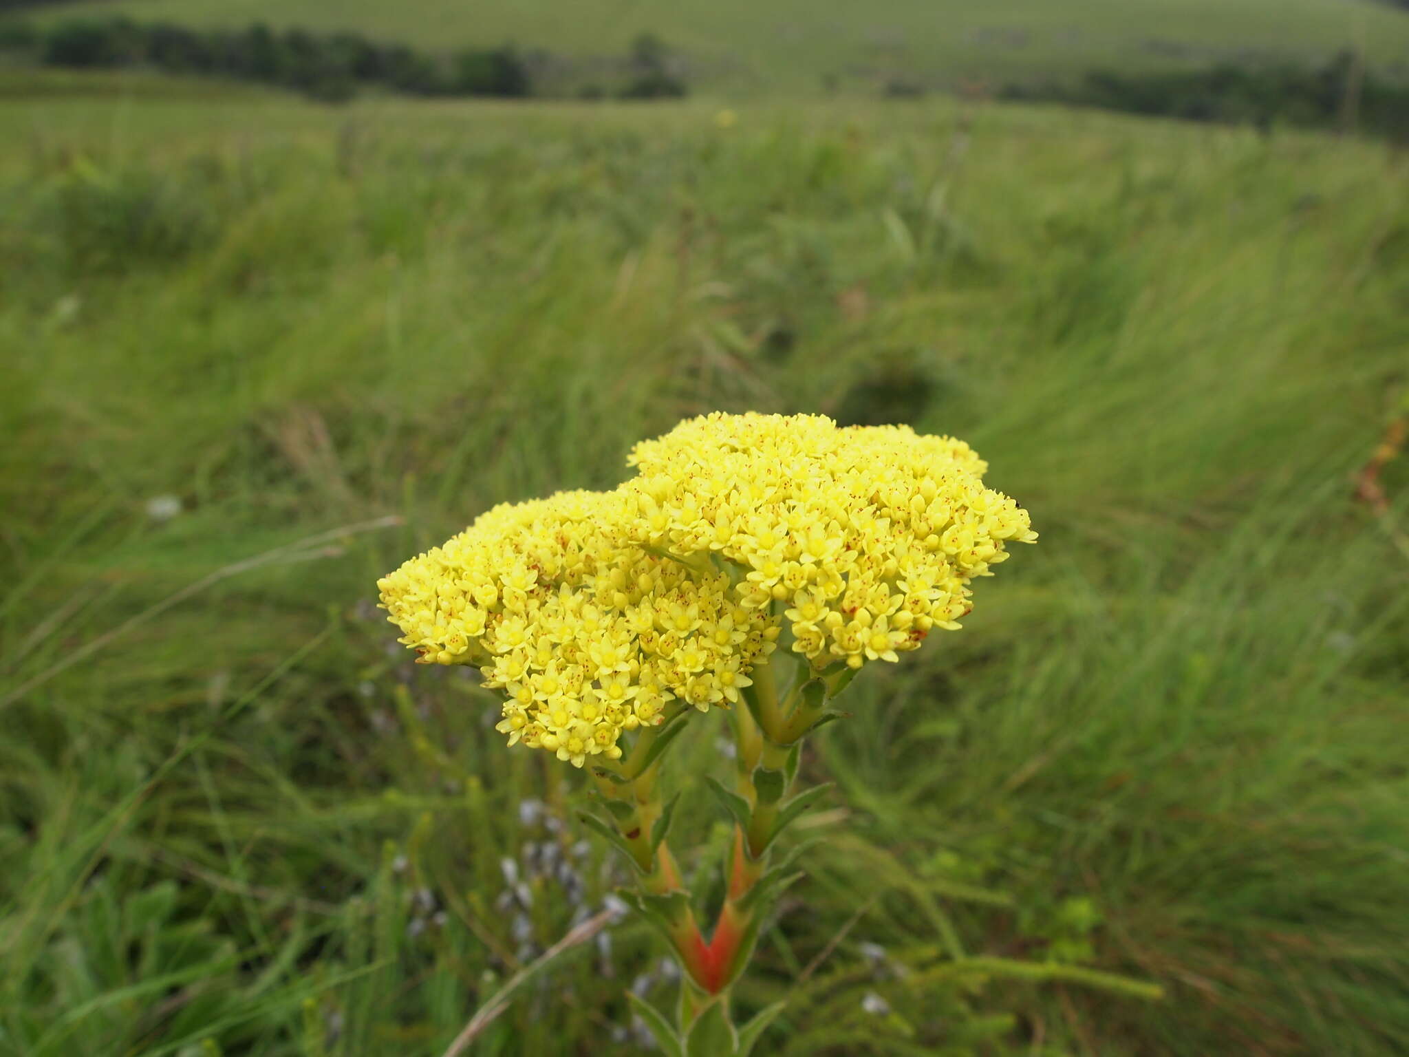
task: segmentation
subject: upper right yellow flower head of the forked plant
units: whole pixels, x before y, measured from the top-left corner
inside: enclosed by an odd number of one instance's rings
[[[734,596],[778,612],[821,669],[859,668],[957,629],[968,583],[1034,543],[1027,512],[983,486],[964,441],[819,414],[709,414],[638,444],[623,485],[635,536],[738,569]]]

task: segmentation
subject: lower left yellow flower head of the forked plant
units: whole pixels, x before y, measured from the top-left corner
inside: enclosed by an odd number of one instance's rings
[[[469,664],[506,700],[509,743],[582,767],[674,699],[737,700],[778,630],[726,574],[641,550],[617,492],[502,505],[378,581],[421,664]]]

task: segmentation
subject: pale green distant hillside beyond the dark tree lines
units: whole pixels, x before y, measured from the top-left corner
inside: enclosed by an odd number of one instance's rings
[[[37,8],[35,18],[114,13],[232,28],[252,21],[356,28],[431,49],[511,41],[575,59],[588,79],[593,62],[621,56],[637,34],[654,32],[683,54],[692,83],[737,96],[816,94],[824,78],[843,90],[874,92],[892,79],[996,85],[1247,55],[1319,62],[1341,48],[1409,69],[1409,13],[1375,0],[578,0],[571,17],[561,0],[87,0]]]

